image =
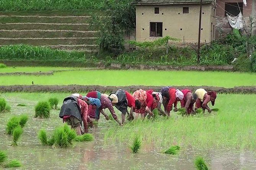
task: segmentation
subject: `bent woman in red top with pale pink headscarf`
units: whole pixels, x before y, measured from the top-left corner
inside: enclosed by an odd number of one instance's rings
[[[177,103],[178,101],[181,101],[184,97],[183,93],[180,90],[176,90],[175,88],[170,88],[169,91],[164,91],[162,93],[163,98],[165,98],[168,101],[167,106],[165,107],[165,112],[167,112],[167,115],[170,116],[170,111],[173,109],[174,104],[174,111],[178,111]]]

